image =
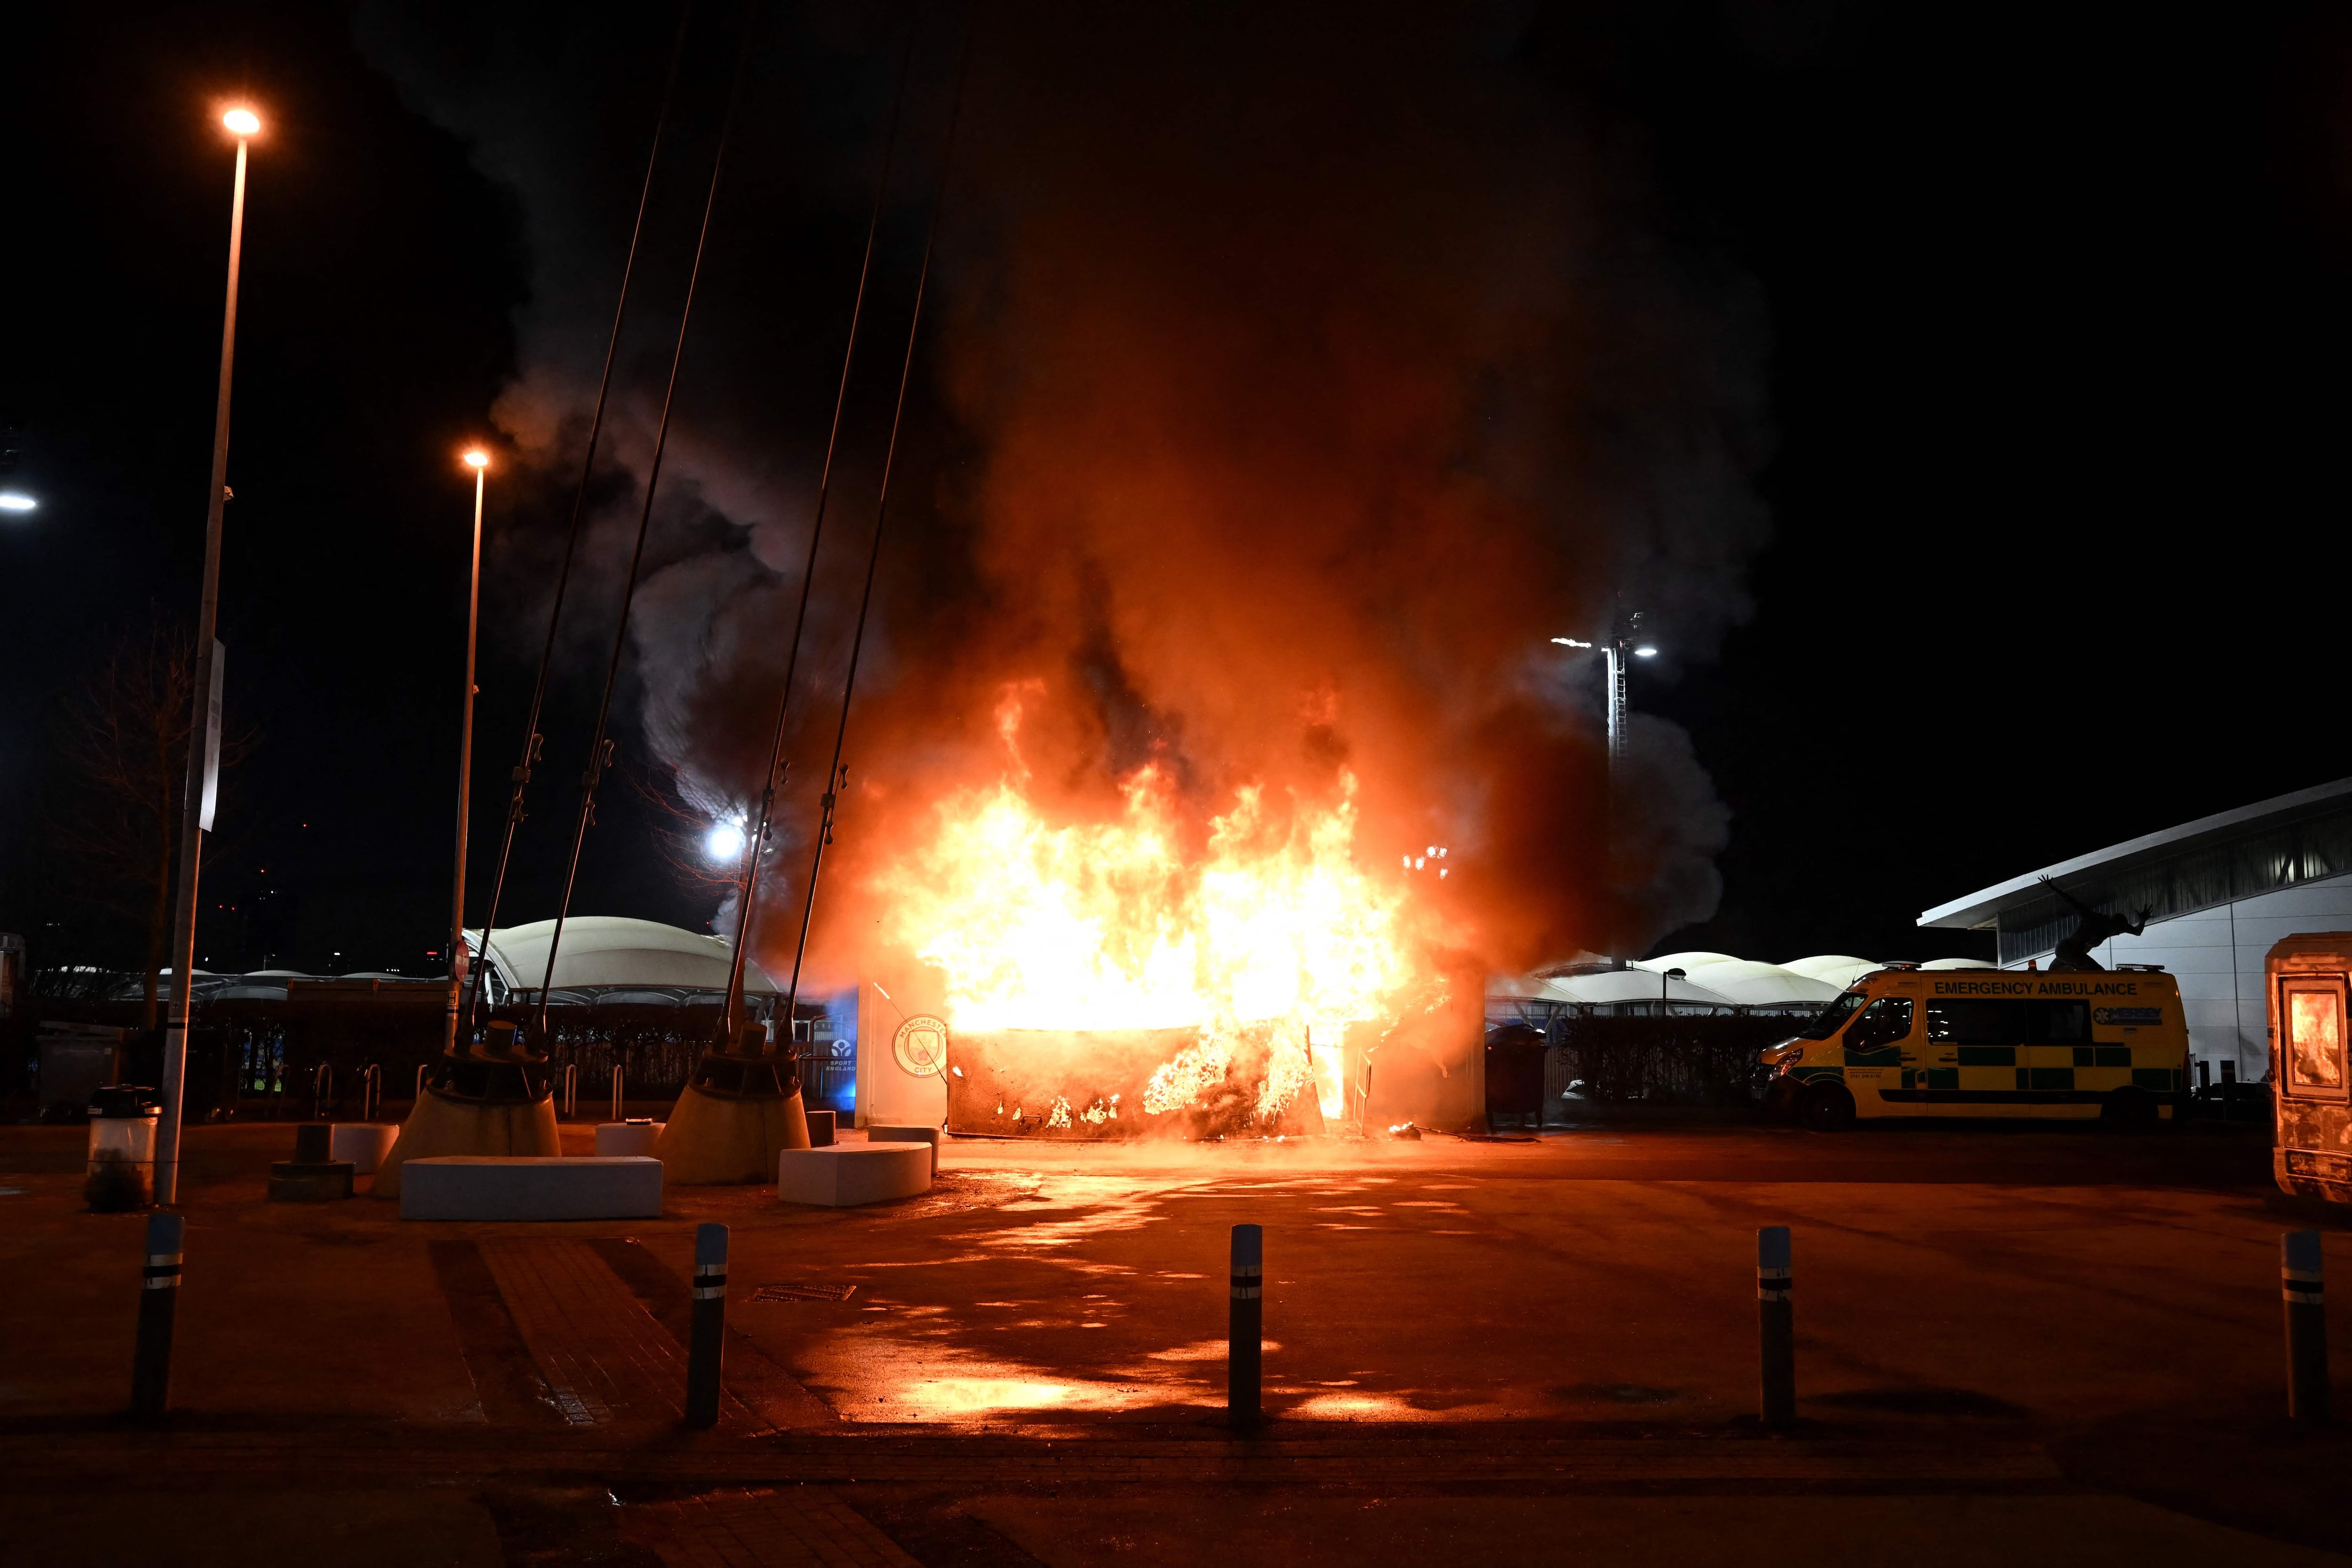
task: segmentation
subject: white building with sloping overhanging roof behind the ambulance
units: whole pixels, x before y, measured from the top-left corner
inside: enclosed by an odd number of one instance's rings
[[[2011,877],[1919,924],[1994,931],[2002,969],[2046,969],[2077,922],[2051,889],[2126,919],[2145,910],[2140,936],[2110,938],[2093,957],[2178,976],[2190,1053],[2258,1079],[2270,1072],[2263,954],[2284,936],[2352,931],[2352,778]]]

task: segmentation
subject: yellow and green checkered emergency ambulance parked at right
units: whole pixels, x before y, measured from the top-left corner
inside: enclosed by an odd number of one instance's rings
[[[1856,1117],[2169,1121],[2187,1091],[2180,985],[2112,971],[1889,964],[1764,1051],[1766,1105],[1813,1131]]]

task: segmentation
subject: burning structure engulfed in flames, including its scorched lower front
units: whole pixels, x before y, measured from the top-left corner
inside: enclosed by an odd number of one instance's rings
[[[1362,1128],[1381,1044],[1406,1013],[1444,1016],[1449,980],[1430,957],[1442,917],[1414,907],[1404,867],[1359,865],[1355,776],[1338,769],[1324,799],[1240,785],[1228,809],[1188,823],[1169,769],[1143,764],[1108,820],[1054,823],[1021,752],[1033,696],[1025,684],[997,701],[1002,773],[936,799],[929,832],[866,889],[880,947],[931,973],[948,1128],[1075,1140]],[[1432,872],[1428,851],[1418,860]],[[1472,1065],[1475,1006],[1465,1018],[1456,1051],[1423,1027],[1423,1060],[1406,1067],[1399,1046],[1395,1072],[1421,1079],[1435,1060],[1449,1079]],[[1475,1105],[1468,1077],[1463,1088]],[[1421,1119],[1432,1112],[1421,1105]]]

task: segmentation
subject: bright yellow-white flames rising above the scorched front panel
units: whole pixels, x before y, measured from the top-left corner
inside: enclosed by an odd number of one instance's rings
[[[1016,724],[1007,776],[941,799],[877,886],[884,936],[946,973],[950,1027],[1192,1027],[1138,1095],[1155,1114],[1221,1081],[1247,1030],[1268,1046],[1261,1114],[1308,1086],[1341,1114],[1345,1025],[1416,978],[1404,889],[1355,863],[1355,776],[1327,802],[1242,785],[1188,832],[1171,778],[1143,766],[1112,820],[1049,823]]]

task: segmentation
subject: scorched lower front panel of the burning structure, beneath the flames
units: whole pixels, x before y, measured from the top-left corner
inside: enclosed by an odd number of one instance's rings
[[[985,1030],[948,1046],[948,1131],[997,1138],[1296,1138],[1338,1131],[1338,1044],[1230,1030]]]

